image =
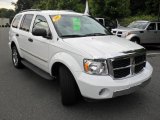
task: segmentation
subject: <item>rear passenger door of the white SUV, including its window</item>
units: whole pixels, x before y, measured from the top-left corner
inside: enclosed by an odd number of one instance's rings
[[[18,33],[18,43],[20,45],[21,52],[23,57],[28,60],[28,54],[30,54],[29,50],[29,38],[31,37],[30,26],[33,19],[33,14],[25,14],[23,16],[21,25],[20,25],[20,32]]]

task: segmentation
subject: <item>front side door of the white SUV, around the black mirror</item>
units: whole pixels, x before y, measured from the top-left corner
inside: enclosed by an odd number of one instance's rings
[[[47,36],[35,36],[31,35],[29,39],[32,40],[29,44],[29,50],[32,53],[30,56],[34,65],[48,72],[48,59],[49,59],[49,43],[51,41],[51,32],[46,18],[42,15],[37,15],[35,17],[32,31],[35,29],[45,29],[47,31]],[[31,32],[32,32],[31,31]]]

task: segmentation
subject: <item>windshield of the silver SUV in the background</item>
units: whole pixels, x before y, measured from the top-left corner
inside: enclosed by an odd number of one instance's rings
[[[129,28],[138,28],[138,29],[145,29],[148,25],[148,22],[132,22],[128,25]]]

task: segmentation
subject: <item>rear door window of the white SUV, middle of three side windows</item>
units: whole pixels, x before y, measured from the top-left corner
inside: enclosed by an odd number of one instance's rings
[[[24,15],[20,29],[29,32],[32,19],[33,19],[33,14]]]

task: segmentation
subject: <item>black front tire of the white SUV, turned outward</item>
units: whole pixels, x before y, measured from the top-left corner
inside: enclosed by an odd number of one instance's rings
[[[59,80],[62,104],[69,106],[77,103],[80,96],[78,85],[70,70],[63,65],[59,68]]]

